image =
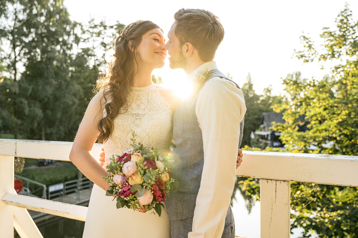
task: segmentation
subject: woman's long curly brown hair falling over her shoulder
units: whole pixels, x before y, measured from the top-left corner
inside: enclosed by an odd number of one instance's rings
[[[97,92],[103,90],[106,110],[106,115],[97,124],[97,129],[100,131],[97,137],[99,143],[108,140],[114,129],[113,120],[122,112],[122,110],[120,111],[122,107],[128,106],[127,97],[130,86],[133,85],[134,75],[139,71],[139,61],[136,55],[137,47],[142,40],[142,35],[155,28],[163,31],[152,21],[134,22],[127,25],[115,40],[114,60],[108,64],[107,73],[100,76],[96,84]],[[137,66],[136,72],[134,72],[134,62]],[[122,113],[125,112],[126,110]]]

